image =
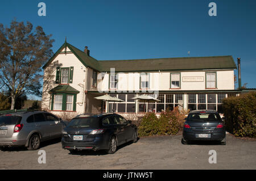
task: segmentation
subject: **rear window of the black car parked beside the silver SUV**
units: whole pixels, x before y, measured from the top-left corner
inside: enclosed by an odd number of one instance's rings
[[[98,128],[99,120],[96,117],[76,117],[70,121],[68,127]]]

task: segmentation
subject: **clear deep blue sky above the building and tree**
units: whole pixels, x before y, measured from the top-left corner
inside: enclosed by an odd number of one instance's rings
[[[38,16],[38,3],[46,16]],[[217,16],[209,16],[210,2]],[[242,85],[255,88],[255,0],[89,0],[1,1],[0,23],[29,21],[55,39],[53,52],[64,43],[88,46],[97,60],[224,56],[241,57]],[[237,70],[235,71],[237,74]]]

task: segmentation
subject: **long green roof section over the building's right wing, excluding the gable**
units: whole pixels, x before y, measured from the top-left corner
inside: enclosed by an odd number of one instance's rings
[[[158,70],[203,70],[236,69],[232,56],[154,58],[141,60],[99,61],[102,71],[158,71]]]

